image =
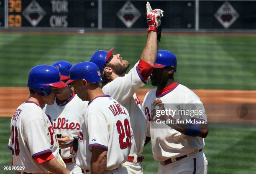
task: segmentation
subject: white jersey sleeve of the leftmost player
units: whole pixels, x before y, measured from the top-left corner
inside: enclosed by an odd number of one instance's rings
[[[24,135],[28,144],[28,149],[33,158],[51,152],[48,144],[49,140],[47,139],[47,137],[51,135],[42,119],[34,119],[26,124],[24,127]]]

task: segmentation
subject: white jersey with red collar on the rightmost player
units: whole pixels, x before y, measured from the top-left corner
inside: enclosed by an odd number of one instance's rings
[[[152,152],[154,159],[157,161],[183,156],[204,147],[204,139],[199,136],[186,136],[169,127],[166,129],[155,129],[151,127],[150,121],[151,119],[155,119],[151,115],[151,103],[156,99],[161,100],[162,103],[202,103],[193,91],[177,82],[166,88],[168,90],[163,90],[161,94],[156,93],[156,88],[149,91],[142,104],[143,110],[148,118],[147,132],[150,135],[147,136],[151,137]],[[178,107],[182,108],[182,106]],[[203,115],[204,118],[200,119],[207,120],[205,112]],[[156,124],[156,122],[152,122],[152,124]]]

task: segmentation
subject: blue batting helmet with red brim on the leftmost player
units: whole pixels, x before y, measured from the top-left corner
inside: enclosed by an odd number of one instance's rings
[[[51,86],[64,88],[67,84],[61,81],[60,72],[54,66],[38,65],[31,69],[27,86],[40,96],[49,96],[51,94]]]

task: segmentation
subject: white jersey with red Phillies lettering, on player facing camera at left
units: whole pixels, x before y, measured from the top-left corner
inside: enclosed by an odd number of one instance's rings
[[[71,139],[78,136],[82,113],[86,109],[88,101],[82,101],[76,94],[63,104],[46,105],[43,110],[49,116],[56,134],[68,135]],[[61,149],[62,159],[69,159],[75,155],[69,153],[69,148]]]

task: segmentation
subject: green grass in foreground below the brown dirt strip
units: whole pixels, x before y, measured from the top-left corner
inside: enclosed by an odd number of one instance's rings
[[[208,174],[253,174],[256,171],[256,129],[211,129],[205,139]],[[0,165],[11,164],[7,149],[10,118],[0,118]],[[158,163],[151,154],[151,144],[144,149],[144,174],[156,174]],[[0,173],[13,174],[14,172]]]

